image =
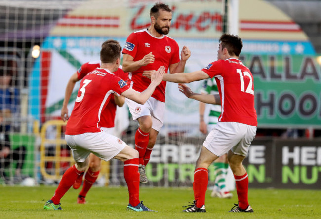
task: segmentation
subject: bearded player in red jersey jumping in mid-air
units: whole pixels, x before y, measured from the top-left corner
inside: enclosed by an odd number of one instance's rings
[[[157,70],[165,66],[166,73],[184,72],[185,63],[191,56],[184,46],[179,58],[177,42],[167,37],[172,20],[172,10],[168,5],[156,3],[150,10],[151,25],[147,29],[129,35],[123,53],[123,70],[129,72],[129,84],[134,90],[142,92],[150,80],[142,76],[144,71]],[[163,126],[165,111],[165,86],[163,81],[145,104],[126,99],[133,120],[138,120],[139,128],[135,134],[135,148],[139,152],[140,182],[148,183],[145,173],[157,135]]]

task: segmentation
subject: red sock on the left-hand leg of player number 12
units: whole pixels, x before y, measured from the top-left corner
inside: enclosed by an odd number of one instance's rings
[[[194,171],[194,198],[196,207],[201,208],[205,204],[205,194],[208,184],[208,170],[206,168],[197,168]]]

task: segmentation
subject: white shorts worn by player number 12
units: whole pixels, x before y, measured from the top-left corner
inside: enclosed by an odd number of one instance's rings
[[[219,157],[229,150],[246,156],[255,135],[255,126],[238,122],[218,122],[206,137],[203,146]]]

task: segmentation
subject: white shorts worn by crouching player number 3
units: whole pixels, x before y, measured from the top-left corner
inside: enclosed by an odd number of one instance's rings
[[[122,151],[126,143],[107,132],[88,132],[80,135],[66,135],[67,145],[77,162],[84,162],[90,153],[108,161]]]

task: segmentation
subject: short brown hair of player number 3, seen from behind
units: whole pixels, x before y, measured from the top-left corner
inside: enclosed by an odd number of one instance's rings
[[[120,58],[121,46],[119,43],[107,43],[100,50],[102,63],[113,63]]]

